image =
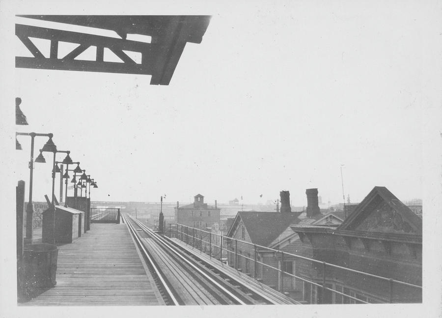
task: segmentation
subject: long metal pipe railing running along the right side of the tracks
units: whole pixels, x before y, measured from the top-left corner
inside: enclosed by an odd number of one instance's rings
[[[220,260],[248,276],[306,303],[399,303],[421,302],[422,286],[382,277],[367,272],[315,260],[302,255],[253,244],[211,231],[169,224],[167,236],[177,238],[200,253]],[[272,254],[273,253],[273,254]],[[270,257],[266,257],[265,255]],[[292,262],[287,266],[285,261]],[[314,269],[316,274],[305,275],[295,266]],[[291,268],[289,270],[287,267]],[[299,273],[301,272],[301,273]],[[353,281],[347,286],[336,278],[345,273]],[[314,276],[314,277],[313,277]],[[303,282],[302,296],[296,292],[296,282]],[[364,287],[375,284],[375,293]],[[287,286],[289,285],[289,286]],[[353,287],[353,288],[352,288]],[[309,295],[306,295],[306,293]],[[405,295],[405,296],[404,296]],[[302,299],[301,299],[302,298]]]

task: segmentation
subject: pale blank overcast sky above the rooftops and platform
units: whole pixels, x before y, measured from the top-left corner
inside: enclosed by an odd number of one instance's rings
[[[54,133],[97,180],[92,200],[190,202],[200,193],[253,203],[289,190],[305,205],[305,189],[318,188],[324,202],[342,202],[341,165],[352,202],[374,186],[421,198],[428,30],[418,3],[202,12],[213,15],[202,43],[186,45],[169,86],[145,75],[17,68],[29,122],[17,130]],[[28,56],[18,38],[15,50]],[[28,186],[30,139],[19,140],[16,179]],[[35,157],[45,141],[36,139]],[[35,201],[50,194],[51,170],[35,164]]]

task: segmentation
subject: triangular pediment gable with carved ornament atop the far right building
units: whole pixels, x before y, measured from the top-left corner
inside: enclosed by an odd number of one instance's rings
[[[422,234],[422,220],[386,187],[376,186],[337,230]]]

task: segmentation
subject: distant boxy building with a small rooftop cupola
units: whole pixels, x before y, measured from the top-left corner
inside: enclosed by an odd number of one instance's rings
[[[193,197],[191,204],[179,206],[179,202],[175,207],[175,221],[178,224],[197,229],[213,228],[219,230],[220,227],[220,211],[217,206],[204,203],[204,197],[197,194]]]

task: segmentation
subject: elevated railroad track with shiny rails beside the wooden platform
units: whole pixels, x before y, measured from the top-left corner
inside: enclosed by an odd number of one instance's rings
[[[131,216],[123,215],[123,222],[142,251],[167,305],[281,303],[198,259]]]

